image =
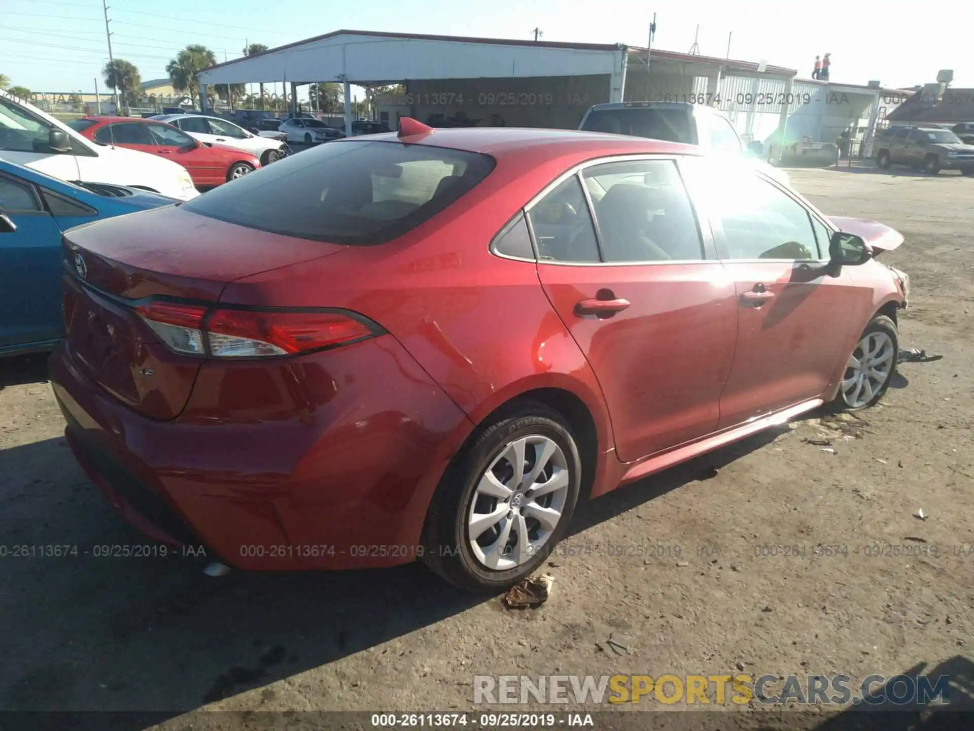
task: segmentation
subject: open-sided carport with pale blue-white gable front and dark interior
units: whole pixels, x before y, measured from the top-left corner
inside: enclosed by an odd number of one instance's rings
[[[336,30],[211,66],[199,78],[201,85],[285,82],[292,96],[299,85],[342,83],[346,135],[352,85],[399,83],[409,114],[421,119],[442,115],[467,125],[490,115],[494,124],[569,127],[588,105],[622,100],[625,61],[619,44]]]

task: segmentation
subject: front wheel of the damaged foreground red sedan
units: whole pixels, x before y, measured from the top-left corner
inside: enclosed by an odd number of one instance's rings
[[[889,388],[899,354],[900,337],[895,323],[885,315],[877,315],[849,354],[839,393],[829,406],[837,411],[856,411],[876,404]]]

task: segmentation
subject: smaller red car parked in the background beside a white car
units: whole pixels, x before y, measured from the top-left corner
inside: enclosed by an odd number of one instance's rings
[[[165,122],[130,117],[82,117],[72,129],[102,144],[159,155],[185,168],[197,187],[221,185],[260,168],[244,150],[194,139]]]

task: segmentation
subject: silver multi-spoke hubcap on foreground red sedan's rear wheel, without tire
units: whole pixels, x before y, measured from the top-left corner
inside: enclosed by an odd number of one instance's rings
[[[568,461],[541,435],[508,442],[480,476],[468,511],[473,556],[505,571],[538,555],[561,520]]]

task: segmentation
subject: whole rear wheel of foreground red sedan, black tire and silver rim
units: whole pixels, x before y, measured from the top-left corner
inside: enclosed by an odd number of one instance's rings
[[[433,495],[423,558],[468,592],[498,592],[530,576],[575,512],[581,457],[561,414],[513,404],[490,417]]]

